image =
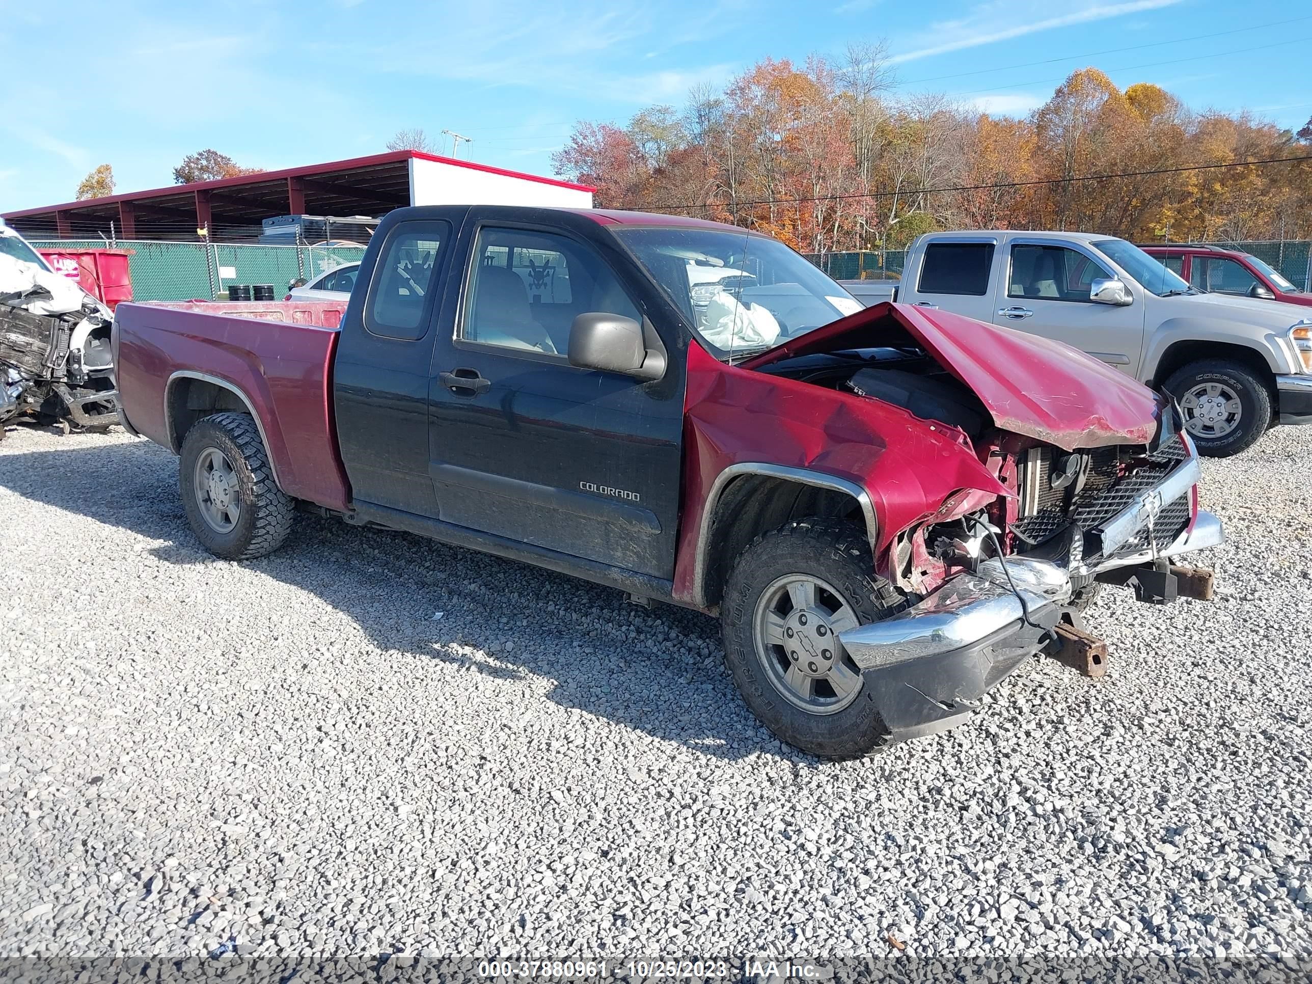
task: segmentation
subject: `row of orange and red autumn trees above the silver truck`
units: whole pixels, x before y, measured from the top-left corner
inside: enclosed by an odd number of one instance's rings
[[[1245,113],[1193,113],[1158,85],[1073,72],[1023,119],[895,96],[880,45],[762,59],[627,123],[580,122],[552,156],[597,205],[735,222],[810,253],[901,248],[943,228],[1130,239],[1312,237],[1312,144]],[[1291,152],[1298,148],[1296,152]],[[1221,165],[1190,169],[1191,165]]]

